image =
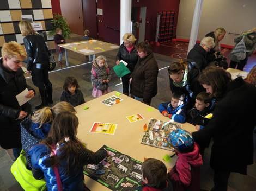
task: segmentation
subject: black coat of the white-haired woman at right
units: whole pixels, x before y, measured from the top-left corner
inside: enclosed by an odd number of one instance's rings
[[[197,67],[202,71],[208,65],[206,55],[206,50],[200,44],[195,44],[194,48],[188,53],[187,59],[196,62]]]

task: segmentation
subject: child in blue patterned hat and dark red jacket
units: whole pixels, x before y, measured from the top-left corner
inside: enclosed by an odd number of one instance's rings
[[[200,190],[200,166],[203,161],[198,145],[190,133],[182,129],[172,131],[168,142],[178,156],[175,166],[168,173],[173,190]]]

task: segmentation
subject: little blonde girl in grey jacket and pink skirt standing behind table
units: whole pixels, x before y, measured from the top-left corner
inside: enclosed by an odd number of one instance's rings
[[[111,79],[111,74],[104,56],[98,56],[94,60],[91,73],[93,97],[100,97],[101,95],[109,93],[110,89],[108,83]]]

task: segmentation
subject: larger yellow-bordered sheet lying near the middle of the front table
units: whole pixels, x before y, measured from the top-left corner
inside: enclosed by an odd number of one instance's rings
[[[90,132],[114,135],[117,124],[94,122]]]

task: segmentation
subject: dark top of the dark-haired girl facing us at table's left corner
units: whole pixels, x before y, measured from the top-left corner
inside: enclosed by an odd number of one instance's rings
[[[74,107],[86,103],[83,98],[83,93],[78,89],[76,89],[75,95],[70,95],[69,92],[63,91],[62,96],[60,97],[60,101],[66,101]]]

